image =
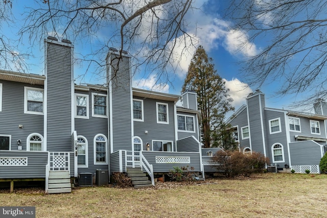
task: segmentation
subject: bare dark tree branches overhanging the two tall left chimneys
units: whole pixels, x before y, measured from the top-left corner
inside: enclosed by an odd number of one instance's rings
[[[186,41],[193,37],[186,33],[184,20],[191,4],[192,0],[41,1],[28,12],[20,34],[28,34],[31,44],[48,34],[82,43],[98,40],[101,46],[81,58],[89,67],[104,66],[109,48],[117,47],[120,54],[132,55],[134,69],[143,65],[169,82],[167,69],[174,65],[177,43],[185,43],[187,49]],[[183,40],[176,40],[180,37]]]

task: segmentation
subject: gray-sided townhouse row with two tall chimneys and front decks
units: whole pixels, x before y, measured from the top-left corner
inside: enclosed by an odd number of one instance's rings
[[[194,92],[132,88],[130,56],[116,51],[107,56],[108,86],[76,85],[72,43],[44,43],[44,76],[0,70],[0,182],[12,189],[40,180],[46,191],[69,192],[67,179],[142,167],[154,185],[174,166],[204,178]],[[185,107],[176,106],[180,98]]]

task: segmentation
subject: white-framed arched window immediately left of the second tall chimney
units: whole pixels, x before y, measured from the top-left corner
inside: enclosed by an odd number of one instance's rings
[[[108,164],[108,139],[103,134],[94,137],[94,164]]]

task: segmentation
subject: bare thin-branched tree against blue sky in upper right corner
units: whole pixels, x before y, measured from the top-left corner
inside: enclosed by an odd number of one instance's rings
[[[315,90],[326,97],[327,2],[315,0],[233,0],[226,16],[250,43],[268,43],[245,61],[250,85],[283,81],[278,94]],[[309,99],[312,99],[310,96]]]

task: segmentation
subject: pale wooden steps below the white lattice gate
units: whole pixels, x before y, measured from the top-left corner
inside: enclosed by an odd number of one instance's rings
[[[50,171],[48,193],[72,192],[71,175],[68,171]]]

